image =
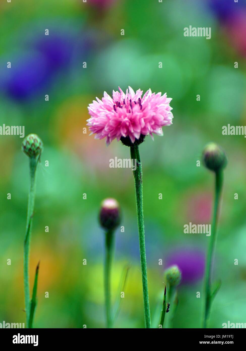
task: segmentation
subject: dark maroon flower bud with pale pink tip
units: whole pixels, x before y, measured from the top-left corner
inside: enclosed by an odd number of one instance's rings
[[[102,201],[99,214],[101,226],[106,230],[113,230],[120,224],[120,206],[118,201],[108,198]]]

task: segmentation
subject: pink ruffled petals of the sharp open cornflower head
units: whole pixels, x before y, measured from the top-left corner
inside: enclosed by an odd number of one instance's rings
[[[131,87],[126,94],[113,91],[113,98],[106,92],[102,100],[93,100],[88,110],[91,118],[87,125],[95,139],[106,138],[109,145],[113,139],[120,140],[121,137],[129,137],[134,143],[140,135],[151,135],[153,133],[163,135],[162,126],[172,124],[172,107],[169,105],[171,98],[161,93],[152,93],[149,89],[142,97],[139,89],[135,93]]]

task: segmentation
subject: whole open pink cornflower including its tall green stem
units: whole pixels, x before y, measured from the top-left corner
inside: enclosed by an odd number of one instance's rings
[[[89,130],[95,134],[96,139],[106,138],[107,144],[110,144],[115,138],[118,141],[121,140],[122,144],[130,147],[131,159],[137,161],[133,175],[137,204],[144,316],[145,327],[151,328],[142,203],[142,164],[138,145],[144,141],[146,135],[151,135],[152,138],[153,133],[162,135],[162,127],[172,124],[172,107],[169,105],[172,99],[167,98],[166,94],[162,96],[161,93],[152,94],[150,89],[142,97],[140,89],[135,93],[131,87],[129,87],[129,92],[128,89],[126,90],[126,94],[119,87],[119,92],[113,91],[113,98],[104,92],[102,100],[96,99],[97,101],[93,100],[93,103],[89,104],[88,107],[91,115],[91,118],[87,120]],[[109,306],[109,304],[108,300],[107,305]]]

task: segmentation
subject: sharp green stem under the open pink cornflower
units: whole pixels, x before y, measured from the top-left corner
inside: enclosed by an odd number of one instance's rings
[[[144,237],[142,165],[141,165],[138,146],[131,146],[131,158],[133,160],[135,159],[137,160],[137,168],[135,171],[133,171],[133,175],[135,180],[135,193],[136,193],[136,204],[137,204],[140,261],[141,261],[141,271],[142,271],[142,290],[144,295],[145,327],[151,328],[150,312],[149,312],[149,297],[148,297],[147,264],[146,264],[146,253],[145,253],[145,237]]]

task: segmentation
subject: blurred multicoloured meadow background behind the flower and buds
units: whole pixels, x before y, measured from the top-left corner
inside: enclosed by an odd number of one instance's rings
[[[184,27],[190,25],[211,27],[211,39],[184,37]],[[214,279],[220,278],[222,286],[210,326],[246,322],[246,141],[222,135],[228,123],[246,124],[245,1],[1,1],[0,31],[0,125],[24,125],[25,135],[38,134],[45,146],[31,240],[31,286],[40,260],[34,326],[105,327],[104,232],[98,212],[102,199],[114,197],[125,232],[116,233],[113,300],[122,270],[131,267],[115,327],[144,327],[133,175],[128,168],[109,168],[109,159],[129,158],[129,149],[116,141],[106,147],[88,130],[83,133],[88,104],[104,91],[128,85],[173,98],[173,125],[164,128],[164,137],[156,136],[154,142],[147,137],[140,146],[153,327],[159,324],[163,272],[172,263],[183,274],[173,326],[201,325],[209,237],[184,234],[184,225],[210,223],[213,174],[197,167],[210,141],[228,155],[214,267]],[[25,322],[22,266],[29,174],[22,140],[0,135],[1,323]]]

